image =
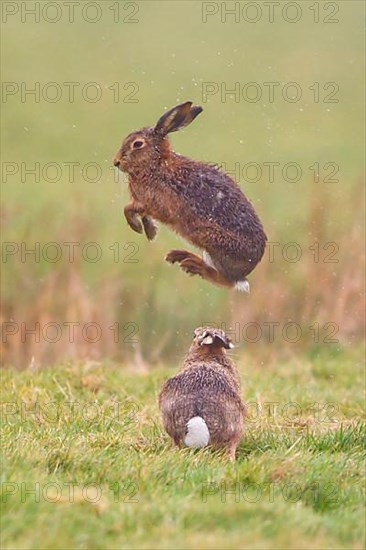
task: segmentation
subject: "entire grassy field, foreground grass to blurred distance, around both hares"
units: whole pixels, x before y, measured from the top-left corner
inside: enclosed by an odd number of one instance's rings
[[[296,23],[285,0],[273,22],[261,1],[84,1],[73,19],[68,4],[1,3],[2,547],[363,548],[364,3],[301,0]],[[256,23],[222,14],[250,4]],[[256,102],[222,93],[248,83]],[[168,266],[181,239],[160,226],[147,242],[123,217],[113,155],[186,100],[204,111],[173,149],[231,172],[277,247],[250,295]],[[240,344],[235,465],[172,449],[157,409],[209,323]]]

